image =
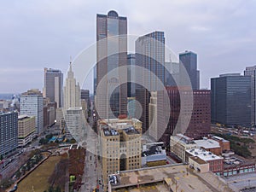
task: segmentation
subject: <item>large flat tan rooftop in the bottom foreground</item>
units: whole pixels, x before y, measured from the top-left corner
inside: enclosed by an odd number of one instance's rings
[[[187,174],[187,170],[188,173]],[[120,172],[110,176],[110,191],[230,191],[212,173],[196,173],[187,165],[157,166]],[[163,184],[165,183],[165,184]],[[139,185],[138,185],[139,184]],[[139,186],[139,187],[137,187]],[[148,186],[144,188],[145,186]],[[149,187],[150,186],[150,187]],[[154,190],[152,190],[154,189]]]

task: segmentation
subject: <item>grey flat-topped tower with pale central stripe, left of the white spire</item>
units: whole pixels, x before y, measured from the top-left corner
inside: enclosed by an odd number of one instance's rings
[[[60,70],[44,68],[44,97],[56,102],[57,108],[62,106],[63,73]]]

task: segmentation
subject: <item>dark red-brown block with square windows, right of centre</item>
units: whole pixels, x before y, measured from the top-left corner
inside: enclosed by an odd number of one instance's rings
[[[171,108],[166,138],[177,133],[195,139],[206,137],[211,129],[211,91],[189,90],[186,86],[166,86],[166,92]]]

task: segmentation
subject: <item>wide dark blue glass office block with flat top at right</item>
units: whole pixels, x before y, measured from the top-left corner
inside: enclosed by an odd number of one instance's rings
[[[211,79],[212,123],[251,125],[251,82],[240,73]]]

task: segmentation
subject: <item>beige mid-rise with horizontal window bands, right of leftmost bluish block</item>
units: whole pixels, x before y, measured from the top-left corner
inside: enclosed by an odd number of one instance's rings
[[[19,115],[18,117],[18,145],[24,147],[36,137],[36,118],[34,116]]]

